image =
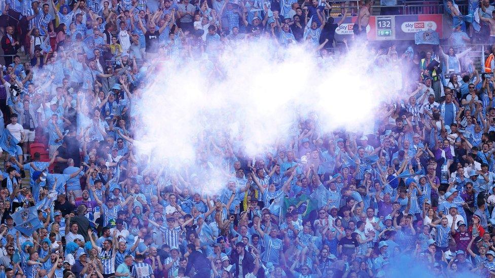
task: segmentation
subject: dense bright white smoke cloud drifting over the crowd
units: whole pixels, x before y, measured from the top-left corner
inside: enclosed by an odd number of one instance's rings
[[[372,132],[380,103],[397,96],[389,71],[364,45],[320,62],[305,46],[267,41],[226,46],[217,64],[164,62],[138,105],[138,151],[180,167],[197,159],[205,147],[199,141],[210,136],[222,144],[227,135],[234,152],[243,146],[256,155],[278,139],[297,138],[298,121],[309,115],[323,132]]]

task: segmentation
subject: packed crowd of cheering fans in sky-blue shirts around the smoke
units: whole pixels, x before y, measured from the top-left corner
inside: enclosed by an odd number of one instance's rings
[[[172,171],[134,141],[157,61],[267,39],[338,63],[348,11],[334,23],[317,0],[0,2],[0,278],[495,275],[495,57],[480,70],[466,58],[473,36],[493,43],[494,7],[480,5],[484,37],[454,23],[451,47],[374,53],[404,86],[373,132],[302,118],[297,138],[255,156],[211,133]],[[356,39],[372,7],[353,8]],[[199,190],[212,169],[221,192]]]

